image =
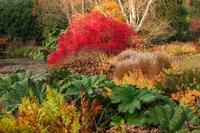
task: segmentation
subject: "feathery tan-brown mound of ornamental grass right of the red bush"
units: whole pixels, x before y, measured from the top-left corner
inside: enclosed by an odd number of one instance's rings
[[[151,76],[159,75],[164,68],[170,68],[170,65],[169,57],[163,53],[139,53],[128,50],[119,54],[118,62],[115,64],[114,77],[122,79],[130,72],[140,70],[142,74],[151,78]]]

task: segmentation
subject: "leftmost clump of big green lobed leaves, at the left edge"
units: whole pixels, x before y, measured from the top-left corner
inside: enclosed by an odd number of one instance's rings
[[[29,71],[19,71],[10,76],[0,77],[0,97],[8,111],[14,111],[21,103],[22,97],[30,96],[30,90],[37,97],[39,103],[45,98],[45,82],[31,81],[31,76],[32,73]]]

